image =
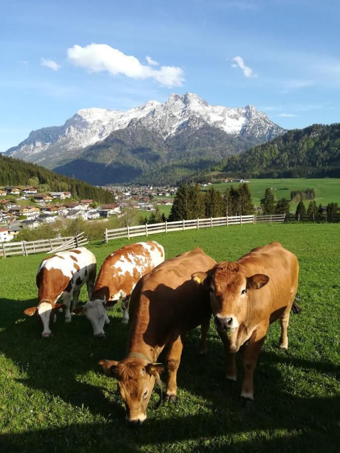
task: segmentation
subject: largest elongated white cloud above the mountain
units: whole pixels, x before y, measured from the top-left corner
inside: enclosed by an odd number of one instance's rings
[[[92,72],[108,71],[113,75],[124,74],[132,79],[154,79],[166,87],[180,87],[184,82],[184,72],[180,67],[161,66],[154,69],[107,44],[89,44],[86,47],[75,44],[67,49],[67,57],[76,66],[85,67]]]

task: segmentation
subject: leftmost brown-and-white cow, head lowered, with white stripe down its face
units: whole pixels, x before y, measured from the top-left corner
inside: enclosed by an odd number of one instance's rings
[[[52,318],[56,320],[56,309],[64,308],[65,323],[71,322],[71,299],[73,297],[75,308],[84,283],[91,297],[96,266],[96,257],[85,247],[58,252],[41,262],[36,276],[38,305],[26,309],[24,313],[28,316],[38,313],[44,327],[43,338],[51,336],[49,323]],[[63,299],[62,304],[56,304],[59,297]]]

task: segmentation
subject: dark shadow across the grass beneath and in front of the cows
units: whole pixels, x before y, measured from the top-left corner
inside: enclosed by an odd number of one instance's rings
[[[120,317],[110,318],[105,327],[107,338],[95,339],[85,318],[73,317],[65,325],[59,316],[52,329],[54,337],[46,340],[41,338],[37,319],[23,315],[35,303],[36,299],[0,299],[4,315],[0,351],[25,371],[27,378],[20,382],[29,389],[47,391],[74,407],[84,405],[95,418],[106,421],[77,423],[73,419],[63,427],[4,434],[0,451],[140,451],[142,447],[157,451],[163,446],[167,450],[169,443],[176,444],[174,451],[336,451],[339,399],[294,396],[287,390],[292,383],[286,381],[279,366],[335,374],[338,370],[332,363],[298,359],[281,350],[262,351],[255,371],[255,403],[245,411],[238,403],[241,373],[237,384],[225,383],[220,340],[210,335],[208,355],[198,358],[199,332],[193,330],[178,371],[178,404],[165,404],[157,412],[149,410],[146,424],[130,430],[125,427],[119,398],[105,395],[98,381],[91,384],[88,375],[86,383],[81,380],[83,374],[99,371],[99,359],[124,357],[127,326]],[[240,354],[237,365],[241,370]],[[101,382],[110,388],[114,380],[103,377]]]

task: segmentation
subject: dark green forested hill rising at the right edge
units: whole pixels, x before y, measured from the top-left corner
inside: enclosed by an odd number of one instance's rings
[[[247,178],[340,177],[340,123],[290,130],[214,170]]]

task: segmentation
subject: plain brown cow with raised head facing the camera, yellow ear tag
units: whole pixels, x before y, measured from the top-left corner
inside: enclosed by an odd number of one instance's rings
[[[241,398],[253,400],[253,372],[269,324],[281,322],[280,347],[288,348],[289,315],[298,289],[299,264],[278,242],[258,247],[236,262],[217,263],[212,272],[192,279],[210,289],[217,331],[226,352],[226,379],[236,381],[235,353],[243,353]],[[299,309],[294,304],[295,309]]]

